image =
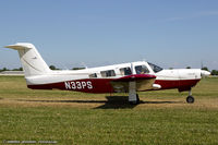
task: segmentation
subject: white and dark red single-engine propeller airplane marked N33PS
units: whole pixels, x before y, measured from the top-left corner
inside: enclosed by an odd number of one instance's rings
[[[146,61],[84,70],[51,71],[34,45],[5,46],[19,51],[28,88],[85,93],[129,93],[130,104],[138,104],[137,92],[178,88],[189,90],[186,102],[194,102],[192,87],[210,73],[201,69],[164,70]]]

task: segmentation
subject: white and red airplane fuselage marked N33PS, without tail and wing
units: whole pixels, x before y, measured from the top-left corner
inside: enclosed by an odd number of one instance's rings
[[[51,71],[45,75],[28,76],[26,77],[27,86],[33,89],[66,89],[86,93],[114,93],[128,92],[124,89],[113,89],[110,83],[113,80],[123,77],[120,69],[133,68],[132,74],[137,74],[135,71],[136,65],[144,65],[148,69],[147,74],[155,75],[155,83],[159,88],[149,87],[143,90],[153,89],[169,89],[178,88],[179,90],[189,90],[195,86],[201,80],[202,70],[199,69],[175,69],[175,70],[161,70],[157,73],[153,71],[149,64],[145,61],[114,64],[108,67],[85,69],[85,70],[71,70],[71,71]],[[102,76],[101,72],[113,70],[114,76]],[[96,77],[90,76],[96,74]],[[141,92],[143,92],[141,90]]]

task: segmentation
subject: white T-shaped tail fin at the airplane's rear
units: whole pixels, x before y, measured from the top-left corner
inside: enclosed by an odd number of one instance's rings
[[[32,44],[17,43],[15,45],[5,46],[5,48],[19,51],[25,76],[43,75],[51,71]]]

